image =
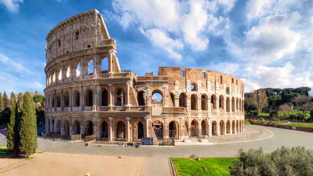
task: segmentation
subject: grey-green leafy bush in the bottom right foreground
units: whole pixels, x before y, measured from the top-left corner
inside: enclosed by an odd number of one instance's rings
[[[313,175],[313,151],[304,147],[281,147],[264,153],[262,148],[239,150],[233,161],[232,176],[307,176]]]

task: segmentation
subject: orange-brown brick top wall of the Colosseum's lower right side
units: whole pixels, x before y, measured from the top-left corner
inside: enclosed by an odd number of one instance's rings
[[[181,71],[183,71],[183,76],[181,76]],[[179,88],[184,89],[186,88],[187,80],[190,80],[191,83],[196,84],[198,81],[201,81],[201,85],[204,89],[210,87],[211,90],[213,90],[215,89],[216,83],[218,83],[220,89],[223,89],[224,85],[226,85],[226,87],[229,87],[233,92],[238,88],[244,91],[243,81],[235,76],[218,71],[180,67],[159,67],[158,75],[168,76],[169,89],[174,86],[175,81],[179,81]],[[222,76],[222,83],[220,83],[220,76]],[[211,83],[211,85],[207,85],[208,83]]]

